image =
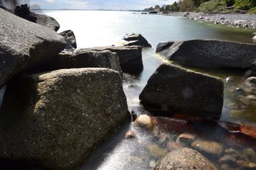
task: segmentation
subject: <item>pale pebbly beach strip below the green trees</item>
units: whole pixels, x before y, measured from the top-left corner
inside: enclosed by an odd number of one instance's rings
[[[256,14],[204,14],[202,12],[173,12],[164,14],[186,17],[194,20],[211,21],[214,24],[256,30]]]

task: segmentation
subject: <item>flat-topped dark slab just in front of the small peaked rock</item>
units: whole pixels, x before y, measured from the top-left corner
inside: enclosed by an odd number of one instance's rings
[[[117,53],[121,69],[125,73],[139,74],[143,70],[141,46],[103,46],[94,47],[92,50],[110,50]]]

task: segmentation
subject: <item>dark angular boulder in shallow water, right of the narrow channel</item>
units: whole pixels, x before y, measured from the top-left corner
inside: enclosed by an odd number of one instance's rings
[[[184,114],[219,116],[223,86],[222,80],[214,76],[162,64],[148,80],[139,99],[143,104],[165,105]]]

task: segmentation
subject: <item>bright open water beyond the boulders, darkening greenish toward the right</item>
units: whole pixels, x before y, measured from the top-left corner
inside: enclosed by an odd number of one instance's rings
[[[71,29],[78,48],[109,46],[125,34],[140,33],[156,48],[160,41],[224,39],[252,43],[252,31],[199,23],[174,16],[141,15],[128,11],[37,11],[54,17],[60,31]]]

